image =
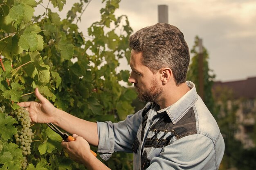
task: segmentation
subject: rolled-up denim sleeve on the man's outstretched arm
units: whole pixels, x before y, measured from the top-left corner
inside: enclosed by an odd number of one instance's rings
[[[98,152],[103,160],[108,160],[113,152],[132,152],[132,144],[141,124],[142,110],[128,115],[124,121],[97,122],[99,145]]]

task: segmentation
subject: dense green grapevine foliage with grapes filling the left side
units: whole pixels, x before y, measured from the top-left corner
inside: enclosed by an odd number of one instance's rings
[[[36,87],[57,108],[90,121],[120,121],[133,113],[136,93],[119,85],[128,82],[129,71],[117,73],[119,59],[129,61],[132,33],[128,18],[114,15],[119,2],[103,0],[101,19],[83,30],[85,36],[77,22],[90,0],[74,3],[64,19],[48,5],[62,11],[65,0],[49,0],[38,16],[43,0],[0,0],[0,170],[85,169],[63,152],[58,134],[31,124],[19,108],[18,102],[36,100]],[[108,166],[131,169],[129,159],[117,154]]]

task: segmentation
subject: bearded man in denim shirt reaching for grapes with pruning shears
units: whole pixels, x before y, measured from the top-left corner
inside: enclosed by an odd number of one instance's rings
[[[38,89],[37,102],[22,102],[31,120],[52,122],[75,141],[62,142],[70,158],[88,169],[109,169],[90,153],[88,143],[108,160],[113,152],[133,152],[134,170],[217,170],[224,140],[211,113],[186,82],[189,48],[183,33],[169,24],[155,24],[130,37],[129,82],[144,109],[119,123],[89,122],[55,108]],[[65,125],[65,126],[64,126]]]

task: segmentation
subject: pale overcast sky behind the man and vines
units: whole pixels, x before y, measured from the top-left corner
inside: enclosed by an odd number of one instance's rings
[[[48,0],[44,0],[47,4]],[[67,0],[65,16],[75,1]],[[102,0],[92,0],[78,24],[84,33],[100,19]],[[198,35],[209,52],[209,67],[223,82],[256,77],[256,0],[121,0],[116,15],[127,15],[133,31],[158,22],[157,6],[168,6],[191,49]],[[38,6],[35,14],[45,11]],[[86,33],[85,33],[86,34]],[[129,68],[122,63],[122,68]]]

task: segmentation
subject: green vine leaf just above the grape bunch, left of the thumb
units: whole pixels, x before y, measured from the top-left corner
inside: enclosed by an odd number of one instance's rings
[[[6,99],[10,99],[13,102],[19,102],[19,99],[22,95],[22,89],[24,89],[24,86],[16,83],[16,82],[12,82],[11,83],[11,89],[10,90],[6,90],[4,91],[4,93],[2,93],[2,95],[6,98]]]

